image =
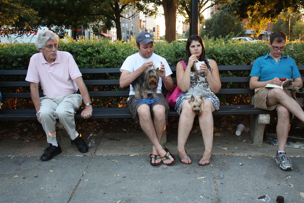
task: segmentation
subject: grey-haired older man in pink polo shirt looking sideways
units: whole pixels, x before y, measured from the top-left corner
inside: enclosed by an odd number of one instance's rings
[[[30,82],[37,119],[42,124],[50,144],[40,158],[42,161],[50,160],[61,153],[56,139],[56,119],[64,125],[78,150],[81,153],[88,152],[88,145],[76,131],[74,114],[83,100],[85,109],[81,112],[81,117],[91,117],[91,99],[73,56],[68,52],[58,51],[57,47],[58,36],[55,33],[50,30],[40,32],[36,42],[40,53],[31,57],[25,79]],[[38,91],[39,82],[44,95],[41,98]],[[78,89],[81,94],[76,93]]]

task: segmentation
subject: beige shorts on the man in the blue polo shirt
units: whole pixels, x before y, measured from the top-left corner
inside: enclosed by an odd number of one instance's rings
[[[282,104],[278,103],[278,104],[272,105],[270,107],[266,106],[266,98],[271,89],[272,88],[261,87],[261,88],[257,88],[254,90],[254,98],[253,98],[254,108],[264,109],[264,110],[274,110],[277,106],[282,105]],[[288,96],[292,97],[292,93],[290,90],[285,89],[284,92]]]

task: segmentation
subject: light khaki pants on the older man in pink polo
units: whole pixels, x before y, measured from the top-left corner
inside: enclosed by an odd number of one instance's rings
[[[80,94],[68,94],[57,98],[44,96],[40,98],[40,102],[40,110],[36,115],[47,134],[47,142],[51,143],[56,139],[56,119],[59,119],[74,140],[76,130],[74,115],[82,103],[82,96]]]

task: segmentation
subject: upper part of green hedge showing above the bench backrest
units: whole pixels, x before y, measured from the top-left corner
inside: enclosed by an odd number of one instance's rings
[[[214,59],[218,65],[248,65],[254,59],[269,52],[268,42],[242,43],[240,41],[204,39],[206,57]],[[108,40],[65,39],[59,41],[58,50],[70,52],[79,68],[118,68],[127,56],[137,52],[135,40],[128,43]],[[304,43],[288,42],[284,54],[304,65]],[[30,57],[37,53],[34,44],[0,44],[0,69],[27,69]],[[156,43],[154,53],[167,59],[171,66],[185,58],[185,42]]]

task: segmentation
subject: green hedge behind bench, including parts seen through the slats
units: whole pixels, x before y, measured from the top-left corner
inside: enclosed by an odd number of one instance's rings
[[[256,58],[269,52],[268,42],[242,43],[227,38],[205,38],[206,57],[214,59],[218,65],[250,65]],[[154,53],[166,58],[169,65],[176,66],[178,61],[185,58],[185,42],[157,42]],[[110,42],[108,40],[60,40],[58,50],[70,52],[79,68],[119,68],[127,56],[138,52],[134,38],[128,42]],[[30,57],[38,53],[34,44],[0,44],[0,69],[14,70],[27,69]],[[304,65],[304,42],[288,42],[284,54],[295,59],[298,65]],[[244,77],[249,72],[221,72],[220,76]],[[90,79],[119,79],[120,74],[110,75],[84,75],[85,80]],[[173,76],[174,77],[174,76]],[[0,81],[24,81],[24,77],[1,76]],[[119,86],[88,86],[89,91],[98,90],[118,91]],[[222,88],[248,88],[247,83],[233,84],[223,83]],[[128,89],[128,88],[124,88]],[[3,92],[29,92],[27,87],[3,88]],[[221,95],[221,104],[246,104],[249,103],[249,95]],[[29,100],[4,100],[4,108],[29,108]],[[126,106],[126,98],[96,98],[96,106]],[[31,104],[30,104],[31,106]],[[32,108],[33,106],[31,106]]]

